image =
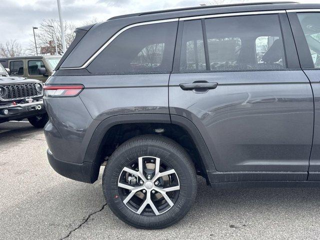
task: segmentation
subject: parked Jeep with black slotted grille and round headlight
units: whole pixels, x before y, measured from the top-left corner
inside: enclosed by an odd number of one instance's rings
[[[35,127],[48,120],[42,97],[42,82],[24,77],[12,77],[0,63],[0,123],[27,118]]]

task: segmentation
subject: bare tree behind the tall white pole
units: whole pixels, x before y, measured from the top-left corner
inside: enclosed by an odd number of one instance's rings
[[[75,35],[75,25],[72,22],[66,21],[63,22],[63,25],[66,47],[68,47],[71,44]],[[40,54],[55,54],[55,44],[57,46],[57,54],[63,54],[62,40],[60,34],[60,23],[58,20],[53,18],[43,19],[40,23],[40,26],[35,31],[35,39],[38,48],[40,48],[38,49],[38,52],[40,52]],[[33,54],[35,53],[35,46],[32,40],[30,41],[29,51],[32,51]]]

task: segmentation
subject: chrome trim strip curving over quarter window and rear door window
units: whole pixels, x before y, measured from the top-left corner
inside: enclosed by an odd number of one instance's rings
[[[190,16],[190,17],[181,17],[181,18],[170,18],[164,20],[155,20],[155,21],[145,21],[134,23],[123,27],[119,31],[117,31],[109,40],[107,40],[88,60],[84,62],[83,65],[79,67],[60,67],[59,69],[67,70],[67,69],[83,69],[87,67],[94,58],[104,50],[118,35],[124,32],[127,29],[130,29],[135,26],[142,26],[148,24],[162,23],[162,22],[171,22],[171,21],[182,21],[182,20],[193,20],[193,19],[202,19],[202,18],[213,18],[213,17],[225,17],[225,16],[242,16],[242,15],[258,15],[258,14],[274,14],[274,13],[285,13],[285,10],[265,10],[265,11],[245,11],[245,12],[232,12],[232,13],[217,13],[211,15],[199,15],[199,16]]]

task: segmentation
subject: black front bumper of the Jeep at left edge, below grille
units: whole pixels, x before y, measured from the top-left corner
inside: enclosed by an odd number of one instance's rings
[[[42,99],[28,103],[0,105],[0,122],[20,120],[45,113]]]

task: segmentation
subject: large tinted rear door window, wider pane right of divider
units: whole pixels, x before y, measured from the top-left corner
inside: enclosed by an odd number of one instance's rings
[[[285,67],[277,14],[205,20],[211,70],[258,70]]]

